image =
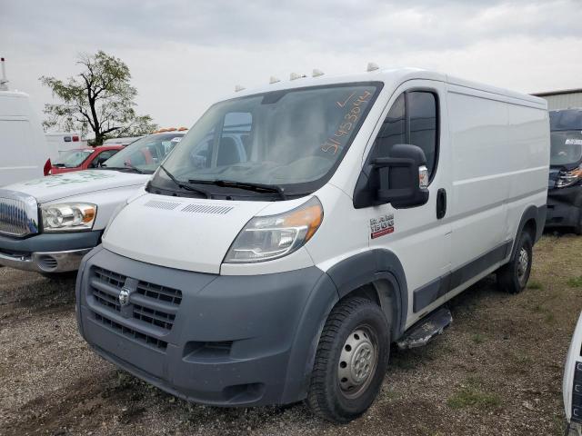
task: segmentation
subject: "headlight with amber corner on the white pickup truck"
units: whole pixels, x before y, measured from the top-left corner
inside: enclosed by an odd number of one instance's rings
[[[78,232],[91,230],[97,216],[96,204],[62,203],[41,207],[45,232]]]

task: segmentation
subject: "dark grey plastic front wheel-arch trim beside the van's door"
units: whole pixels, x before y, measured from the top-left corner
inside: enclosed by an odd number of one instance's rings
[[[390,294],[378,290],[378,296],[386,316],[392,320],[393,341],[402,335],[408,312],[408,287],[402,263],[395,253],[386,249],[358,253],[336,263],[327,270],[327,275],[336,284],[340,299],[366,284],[388,282]]]

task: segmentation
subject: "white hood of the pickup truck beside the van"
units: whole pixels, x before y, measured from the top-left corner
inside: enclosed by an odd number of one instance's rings
[[[140,186],[146,183],[150,177],[151,174],[125,173],[114,170],[85,170],[49,175],[40,179],[3,186],[3,189],[26,193],[35,197],[38,203],[47,203],[105,189]],[[90,198],[87,200],[90,201]]]

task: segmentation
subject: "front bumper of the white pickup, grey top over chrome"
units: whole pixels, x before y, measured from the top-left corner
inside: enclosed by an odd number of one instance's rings
[[[40,233],[28,238],[0,235],[0,265],[33,272],[76,271],[101,231]]]

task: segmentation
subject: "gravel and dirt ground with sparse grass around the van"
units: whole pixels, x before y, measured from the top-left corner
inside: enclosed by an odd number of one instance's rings
[[[0,434],[561,435],[561,381],[582,309],[582,237],[544,236],[529,288],[489,277],[448,307],[426,347],[392,350],[374,405],[337,426],[302,403],[219,409],[118,371],[77,332],[75,280],[0,268]]]

